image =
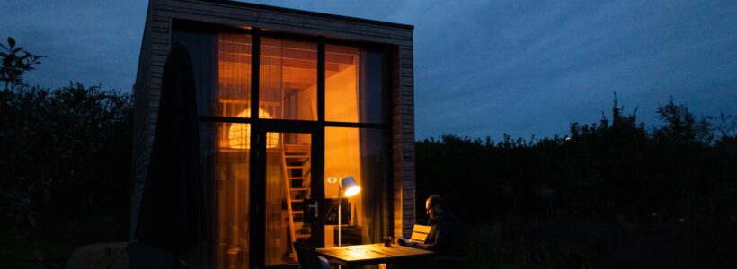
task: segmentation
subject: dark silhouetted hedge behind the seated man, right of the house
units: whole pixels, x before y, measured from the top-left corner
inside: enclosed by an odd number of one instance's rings
[[[417,142],[418,200],[440,194],[472,227],[467,241],[473,267],[589,265],[590,247],[525,242],[546,223],[576,222],[616,225],[631,241],[664,245],[653,252],[670,255],[665,259],[687,257],[682,265],[720,265],[724,256],[712,249],[737,250],[730,236],[737,234],[733,117],[711,117],[721,124],[697,120],[671,99],[658,109],[663,125],[648,131],[637,122],[636,109],[629,115],[623,110],[615,96],[610,119],[573,123],[564,138],[505,135],[494,142],[448,134]],[[424,204],[417,204],[416,213],[423,218]],[[488,255],[499,249],[509,253]]]

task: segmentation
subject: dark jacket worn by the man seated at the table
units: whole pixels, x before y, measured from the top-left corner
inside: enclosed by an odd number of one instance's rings
[[[431,229],[424,244],[417,247],[435,252],[436,256],[460,256],[460,221],[453,213],[441,213],[430,221]]]

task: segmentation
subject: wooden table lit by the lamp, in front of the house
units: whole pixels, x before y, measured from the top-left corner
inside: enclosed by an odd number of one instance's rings
[[[317,248],[317,253],[331,259],[349,269],[360,265],[377,265],[406,261],[409,263],[427,264],[427,258],[432,256],[432,251],[392,245],[384,247],[384,244],[354,245],[347,247],[324,247]],[[424,259],[423,259],[424,258]]]

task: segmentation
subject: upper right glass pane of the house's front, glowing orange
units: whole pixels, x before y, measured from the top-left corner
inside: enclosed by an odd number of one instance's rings
[[[384,122],[382,58],[360,48],[325,46],[325,120]]]

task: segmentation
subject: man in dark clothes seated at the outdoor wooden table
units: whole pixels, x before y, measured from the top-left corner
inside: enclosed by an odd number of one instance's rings
[[[424,242],[399,238],[399,244],[407,247],[427,249],[439,257],[457,257],[461,250],[460,221],[450,212],[448,204],[440,195],[431,195],[425,201],[430,216],[430,233]]]

